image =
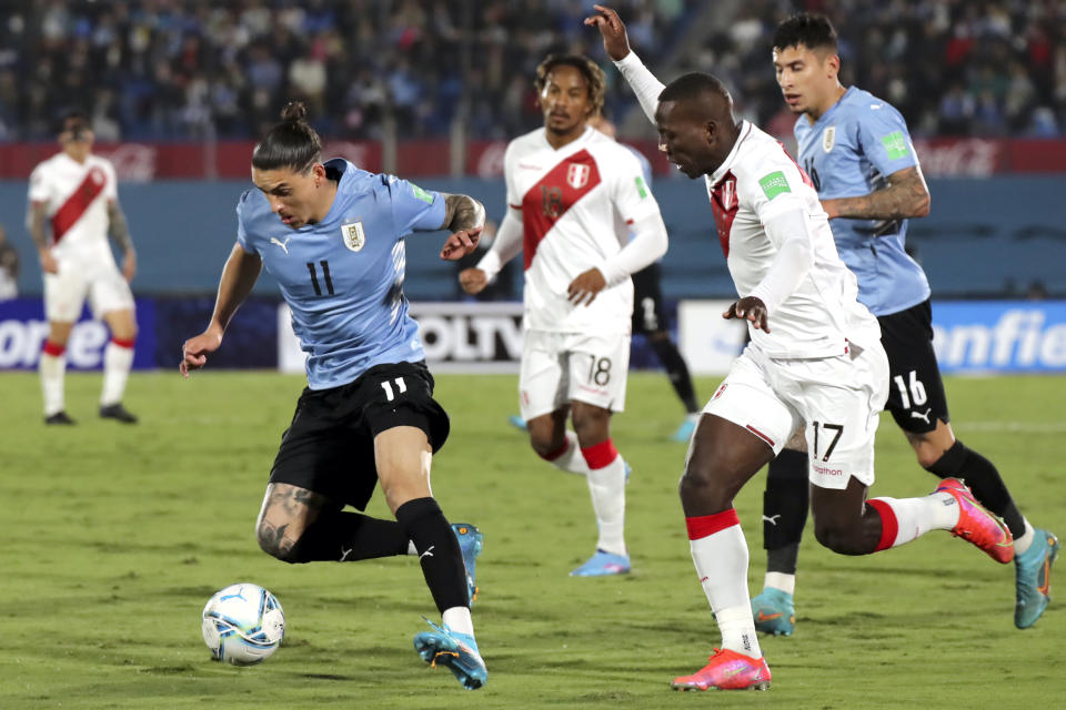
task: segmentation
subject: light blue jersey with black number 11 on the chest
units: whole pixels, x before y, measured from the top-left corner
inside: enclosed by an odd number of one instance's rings
[[[237,240],[278,280],[292,329],[308,353],[308,385],[345,385],[375,365],[425,358],[403,295],[404,237],[435,232],[444,197],[392,175],[334,159],[340,181],[325,219],[293,230],[249,190],[237,205]]]

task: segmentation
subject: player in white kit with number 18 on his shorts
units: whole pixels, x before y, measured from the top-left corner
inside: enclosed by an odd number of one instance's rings
[[[492,250],[460,274],[463,288],[477,293],[524,254],[522,417],[542,458],[586,476],[600,531],[595,554],[571,572],[577,577],[630,571],[626,464],[610,423],[625,404],[630,274],[666,251],[666,227],[636,158],[589,125],[604,85],[603,71],[584,57],[552,55],[537,67],[544,128],[507,146],[506,216]]]

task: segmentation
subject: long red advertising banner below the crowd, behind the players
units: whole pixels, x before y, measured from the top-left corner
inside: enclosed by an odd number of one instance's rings
[[[651,161],[656,174],[671,172],[655,141],[632,144]],[[506,141],[470,141],[465,173],[495,179],[503,175]],[[153,180],[244,180],[249,175],[252,141],[214,143],[98,143],[95,152],[114,163],[121,182]],[[1066,140],[928,139],[915,141],[922,169],[931,178],[986,178],[1000,173],[1066,173]],[[326,140],[323,153],[342,156],[371,172],[384,165],[382,144],[372,141]],[[0,144],[0,180],[27,180],[33,166],[53,155],[54,143]],[[396,174],[451,173],[447,140],[412,140],[396,144]]]

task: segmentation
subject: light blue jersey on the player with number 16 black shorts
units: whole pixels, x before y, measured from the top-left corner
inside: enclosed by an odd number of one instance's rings
[[[867,91],[851,87],[814,125],[795,125],[800,163],[819,200],[858,197],[887,185],[887,176],[918,164],[903,116]],[[829,221],[841,258],[858,278],[858,300],[877,316],[929,297],[922,267],[904,251],[906,220]]]

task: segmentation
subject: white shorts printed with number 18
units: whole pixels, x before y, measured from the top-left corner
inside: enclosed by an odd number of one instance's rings
[[[630,371],[630,334],[526,331],[519,402],[529,422],[573,400],[622,412]]]

